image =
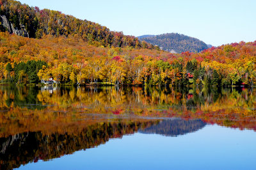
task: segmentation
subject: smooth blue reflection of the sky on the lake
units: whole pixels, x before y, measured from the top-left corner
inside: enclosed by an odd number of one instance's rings
[[[197,132],[165,137],[125,135],[24,169],[255,169],[256,132],[207,125]]]

